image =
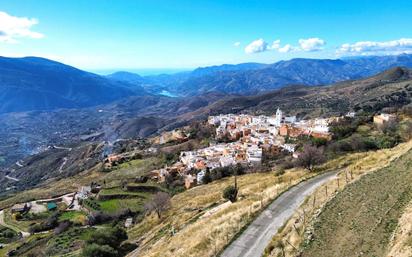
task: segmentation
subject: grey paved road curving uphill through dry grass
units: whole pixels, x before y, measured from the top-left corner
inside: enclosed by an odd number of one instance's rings
[[[317,187],[334,178],[339,171],[321,174],[292,187],[262,212],[249,227],[230,244],[222,257],[260,257],[278,229],[295,213]]]

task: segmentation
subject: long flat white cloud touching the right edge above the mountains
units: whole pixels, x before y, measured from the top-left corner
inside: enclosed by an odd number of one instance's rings
[[[399,54],[412,52],[412,38],[401,38],[391,41],[360,41],[354,44],[343,44],[337,50],[338,54],[370,55]]]

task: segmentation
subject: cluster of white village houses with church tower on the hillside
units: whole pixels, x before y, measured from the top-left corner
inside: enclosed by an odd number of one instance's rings
[[[284,116],[278,109],[273,116],[248,114],[225,114],[210,116],[208,123],[215,126],[216,138],[228,139],[229,143],[211,144],[207,148],[184,151],[180,160],[172,166],[153,171],[154,177],[164,181],[169,174],[185,177],[185,186],[190,188],[202,183],[207,169],[236,164],[254,166],[262,161],[263,153],[287,151],[295,158],[296,145],[286,143],[287,137],[302,135],[330,140],[328,124],[335,118],[298,121],[295,116]],[[198,170],[197,175],[189,174]]]

